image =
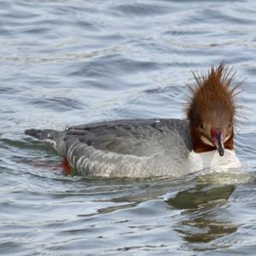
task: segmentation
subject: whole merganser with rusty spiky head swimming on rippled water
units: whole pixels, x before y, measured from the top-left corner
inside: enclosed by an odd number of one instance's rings
[[[235,73],[224,63],[193,75],[187,119],[122,119],[25,133],[49,143],[85,177],[180,177],[240,167],[233,125],[241,83],[234,84]]]

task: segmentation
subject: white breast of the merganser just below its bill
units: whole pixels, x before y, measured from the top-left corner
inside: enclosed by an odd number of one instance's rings
[[[217,150],[189,154],[190,172],[206,170],[207,172],[230,172],[241,169],[241,161],[236,157],[234,150],[225,149],[224,156],[220,156]]]

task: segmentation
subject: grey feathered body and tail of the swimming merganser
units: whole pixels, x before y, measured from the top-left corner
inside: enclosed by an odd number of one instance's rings
[[[26,130],[52,145],[86,177],[179,177],[189,173],[189,122],[134,119],[78,125],[65,131]]]

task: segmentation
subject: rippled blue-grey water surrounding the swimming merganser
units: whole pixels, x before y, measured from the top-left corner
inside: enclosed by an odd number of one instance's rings
[[[0,254],[253,255],[256,3],[0,1]],[[235,174],[67,174],[28,128],[183,118],[192,72],[226,61],[242,124]]]

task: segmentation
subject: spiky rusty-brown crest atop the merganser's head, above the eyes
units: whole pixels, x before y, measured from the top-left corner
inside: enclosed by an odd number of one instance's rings
[[[241,84],[234,83],[236,73],[232,73],[224,62],[218,67],[212,67],[206,74],[195,74],[194,86],[189,85],[190,96],[187,102],[187,119],[191,122],[199,122],[197,113],[206,113],[206,111],[218,111],[218,113],[229,113],[230,119],[234,121],[237,115],[236,95],[240,92]]]

